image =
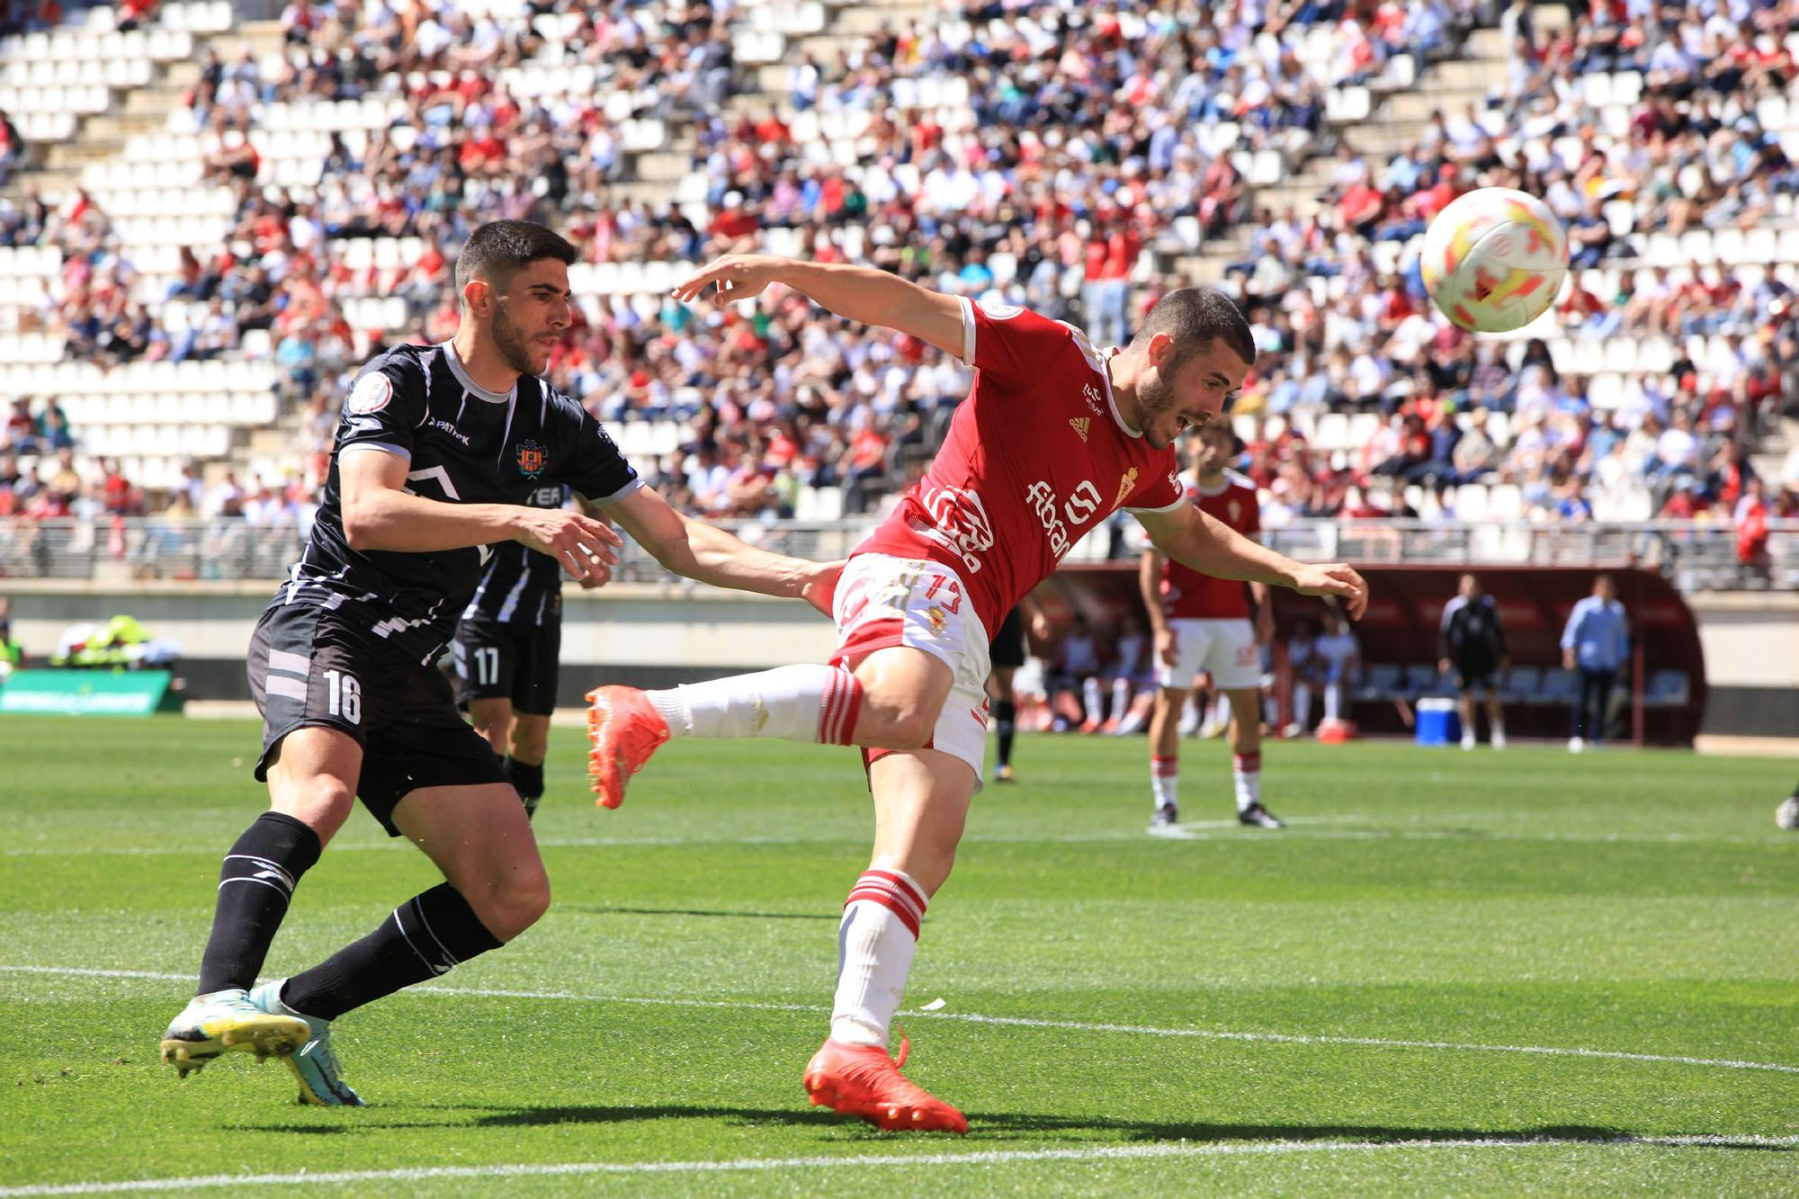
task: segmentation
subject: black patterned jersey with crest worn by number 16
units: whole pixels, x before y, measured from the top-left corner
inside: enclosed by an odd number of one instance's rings
[[[450,342],[396,346],[369,362],[344,403],[318,518],[273,603],[329,609],[417,663],[443,652],[498,549],[351,549],[338,463],[358,452],[407,459],[407,490],[450,504],[529,504],[567,484],[604,506],[642,486],[599,421],[536,376],[504,394],[488,391]],[[545,554],[507,545],[556,569]]]

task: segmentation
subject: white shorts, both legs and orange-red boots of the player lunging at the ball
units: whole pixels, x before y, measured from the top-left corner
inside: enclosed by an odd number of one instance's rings
[[[624,780],[673,729],[896,751],[871,754],[874,859],[844,911],[831,1037],[802,1077],[815,1104],[885,1129],[966,1132],[962,1114],[907,1082],[885,1046],[919,918],[950,873],[980,780],[988,637],[950,571],[882,554],[846,567],[835,618],[838,661],[853,673],[783,666],[669,691],[594,691],[595,790],[617,807]]]

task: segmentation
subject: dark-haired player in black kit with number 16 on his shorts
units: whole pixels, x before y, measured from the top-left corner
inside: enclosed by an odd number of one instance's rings
[[[617,563],[617,533],[529,506],[538,488],[568,484],[604,506],[676,574],[829,612],[842,563],[770,554],[682,517],[538,378],[570,322],[574,259],[541,225],[475,229],[455,265],[455,338],[394,347],[351,387],[311,536],[250,639],[270,810],[225,855],[198,996],[162,1039],[183,1077],[228,1050],[277,1053],[304,1102],[360,1105],[338,1077],[331,1021],[543,915],[549,880],[525,808],[435,668],[497,544],[522,542],[586,581]],[[444,882],[320,965],[248,990],[354,799]]]

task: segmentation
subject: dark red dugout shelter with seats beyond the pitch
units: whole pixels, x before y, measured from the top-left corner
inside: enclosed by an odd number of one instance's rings
[[[1437,675],[1437,627],[1443,605],[1455,594],[1464,571],[1481,576],[1493,596],[1511,648],[1511,670],[1502,695],[1513,736],[1567,736],[1578,679],[1562,668],[1562,628],[1574,605],[1592,592],[1592,580],[1608,572],[1630,614],[1632,657],[1612,700],[1610,735],[1644,745],[1691,745],[1705,718],[1705,657],[1698,621],[1673,583],[1641,567],[1520,567],[1520,565],[1374,565],[1358,567],[1367,578],[1367,616],[1355,625],[1362,643],[1362,679],[1351,717],[1371,735],[1409,735],[1412,706],[1425,697],[1454,695],[1454,682]],[[1142,616],[1137,562],[1097,562],[1061,567],[1033,592],[1060,630],[1079,609],[1097,628],[1110,630],[1124,616]],[[1322,600],[1274,589],[1275,697],[1286,720],[1286,639],[1301,619],[1313,628]],[[1033,646],[1042,654],[1047,646]]]

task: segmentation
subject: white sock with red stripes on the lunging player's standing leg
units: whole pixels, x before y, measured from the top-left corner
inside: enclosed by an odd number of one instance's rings
[[[887,1046],[926,906],[925,888],[898,870],[869,870],[856,879],[837,925],[831,1041]]]

